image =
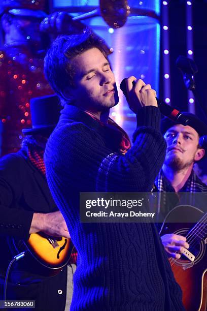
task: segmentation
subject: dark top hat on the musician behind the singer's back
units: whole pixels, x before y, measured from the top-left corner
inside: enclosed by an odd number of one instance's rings
[[[60,116],[61,105],[56,95],[36,97],[30,100],[32,128],[23,129],[25,135],[39,134],[54,130]]]

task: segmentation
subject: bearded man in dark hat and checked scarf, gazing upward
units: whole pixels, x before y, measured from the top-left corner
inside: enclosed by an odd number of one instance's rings
[[[205,149],[199,145],[199,138],[206,135],[207,125],[192,113],[183,114],[189,118],[191,126],[175,123],[167,117],[161,121],[161,133],[167,143],[167,150],[154,190],[175,193],[175,196],[170,196],[170,200],[165,198],[165,203],[162,198],[160,212],[163,215],[176,205],[194,204],[192,197],[184,193],[207,192],[207,186],[193,170],[194,164],[205,155]],[[161,239],[167,255],[172,258],[179,259],[179,253],[189,248],[186,238],[181,235],[164,234]]]

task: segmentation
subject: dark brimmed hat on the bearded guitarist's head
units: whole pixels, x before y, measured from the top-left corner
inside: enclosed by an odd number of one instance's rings
[[[207,125],[203,121],[201,121],[195,114],[183,111],[183,115],[187,116],[189,121],[188,121],[188,126],[193,128],[199,136],[207,135]],[[161,126],[160,126],[160,131],[162,135],[166,133],[166,131],[174,127],[176,124],[180,124],[179,121],[175,122],[172,121],[171,119],[164,117],[161,120]]]

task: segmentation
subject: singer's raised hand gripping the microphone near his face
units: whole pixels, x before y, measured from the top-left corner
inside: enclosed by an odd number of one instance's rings
[[[137,80],[134,76],[124,79],[120,88],[126,96],[129,108],[138,113],[139,109],[144,106],[157,107],[156,92],[150,84],[145,84],[142,79]]]

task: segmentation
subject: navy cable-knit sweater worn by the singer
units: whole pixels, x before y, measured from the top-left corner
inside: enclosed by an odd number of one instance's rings
[[[71,310],[183,310],[154,224],[80,223],[79,193],[148,192],[165,156],[160,113],[144,107],[133,146],[117,131],[66,105],[46,151],[47,178],[78,250]]]

